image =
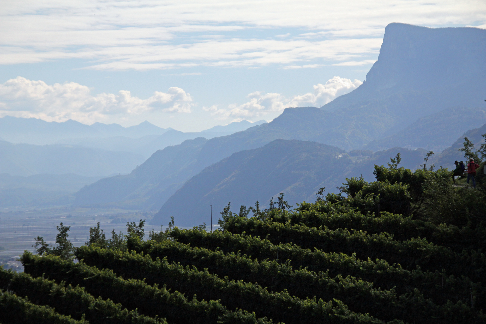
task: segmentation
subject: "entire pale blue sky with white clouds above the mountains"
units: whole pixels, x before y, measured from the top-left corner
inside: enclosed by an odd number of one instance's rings
[[[362,84],[385,27],[486,28],[485,0],[2,0],[0,117],[200,131]]]

